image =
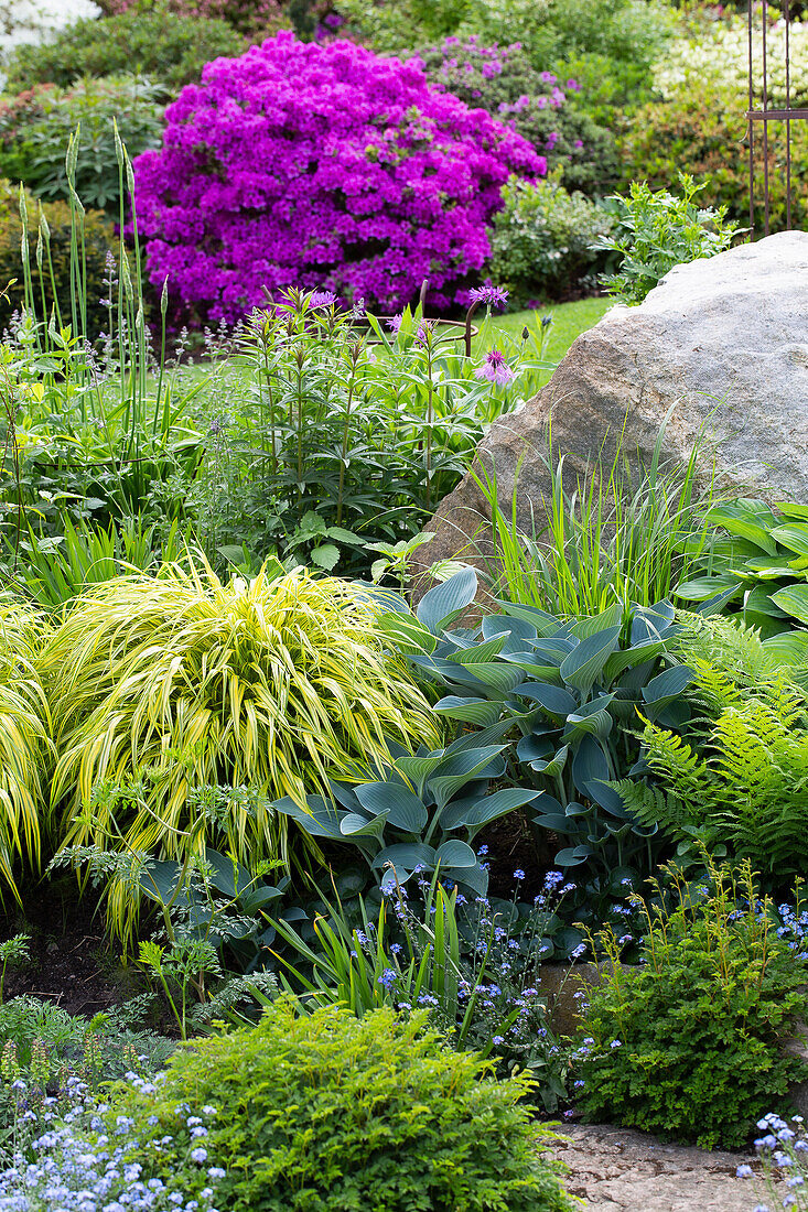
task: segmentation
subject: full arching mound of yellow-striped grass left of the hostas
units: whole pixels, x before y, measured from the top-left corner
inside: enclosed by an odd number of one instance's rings
[[[246,785],[254,802],[257,793],[305,805],[307,793],[329,794],[329,778],[362,778],[388,739],[437,741],[376,616],[359,589],[303,570],[223,584],[206,565],[167,565],[81,594],[44,661],[64,845],[178,858],[223,835],[241,861],[285,858],[268,807],[232,800],[214,839],[189,791]],[[126,821],[93,797],[137,781],[141,807]]]

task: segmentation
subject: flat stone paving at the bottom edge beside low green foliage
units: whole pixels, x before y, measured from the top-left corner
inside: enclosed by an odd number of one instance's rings
[[[553,1149],[569,1166],[567,1189],[586,1212],[752,1212],[764,1202],[755,1179],[735,1177],[750,1159],[660,1144],[610,1125],[565,1125]]]

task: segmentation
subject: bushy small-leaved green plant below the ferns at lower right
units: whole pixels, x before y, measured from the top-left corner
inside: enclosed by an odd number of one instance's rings
[[[701,896],[671,875],[675,908],[645,909],[638,966],[621,967],[618,939],[599,937],[611,967],[582,1024],[581,1105],[593,1122],[736,1148],[806,1077],[781,1048],[804,1010],[806,967],[749,865],[739,877],[711,868]]]

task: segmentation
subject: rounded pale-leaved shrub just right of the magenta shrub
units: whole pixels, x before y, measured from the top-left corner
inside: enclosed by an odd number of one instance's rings
[[[602,255],[592,245],[614,227],[607,211],[577,190],[568,193],[558,176],[535,184],[511,177],[502,201],[494,216],[490,274],[517,305],[593,284]]]

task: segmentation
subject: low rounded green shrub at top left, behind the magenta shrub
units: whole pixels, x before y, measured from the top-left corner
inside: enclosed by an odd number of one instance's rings
[[[34,84],[68,88],[82,76],[136,72],[161,81],[169,92],[199,79],[220,56],[244,51],[244,38],[227,22],[159,10],[131,8],[106,21],[86,17],[56,38],[15,50],[6,92]]]

